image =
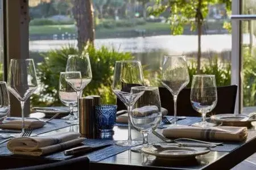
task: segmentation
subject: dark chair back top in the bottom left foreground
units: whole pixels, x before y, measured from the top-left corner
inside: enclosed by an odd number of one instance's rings
[[[63,169],[89,169],[89,159],[86,156],[80,156],[69,160],[63,160],[55,163],[34,165],[31,167],[14,168],[13,170],[63,170]]]

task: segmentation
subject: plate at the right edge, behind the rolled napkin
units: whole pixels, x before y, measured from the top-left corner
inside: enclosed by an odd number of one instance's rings
[[[216,114],[211,116],[210,119],[228,126],[250,126],[251,122],[256,121],[255,117],[243,121],[246,116],[246,114]]]

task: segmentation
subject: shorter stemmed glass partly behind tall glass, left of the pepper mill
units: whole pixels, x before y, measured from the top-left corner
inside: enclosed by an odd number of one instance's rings
[[[62,119],[65,119],[67,120],[67,122],[72,123],[72,121],[76,119],[73,113],[73,108],[77,105],[77,95],[76,95],[76,91],[67,82],[66,77],[68,77],[68,74],[69,73],[66,73],[66,72],[60,72],[59,98],[61,103],[69,107],[68,116],[62,117]]]

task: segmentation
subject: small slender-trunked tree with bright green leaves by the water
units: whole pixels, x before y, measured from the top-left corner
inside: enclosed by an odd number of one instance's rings
[[[200,73],[201,65],[201,34],[204,18],[208,14],[208,5],[216,3],[226,3],[226,8],[230,10],[231,0],[176,0],[164,1],[156,0],[155,5],[149,10],[152,15],[160,15],[166,10],[170,10],[170,26],[174,35],[182,34],[184,25],[191,24],[191,31],[197,28],[198,49],[197,49],[197,74]]]

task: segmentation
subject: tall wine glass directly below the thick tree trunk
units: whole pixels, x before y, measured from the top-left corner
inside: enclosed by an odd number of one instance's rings
[[[77,71],[80,72],[80,77],[77,76]],[[69,72],[69,78],[67,82],[71,84],[73,89],[76,91],[77,95],[77,120],[74,122],[79,124],[79,98],[82,95],[82,90],[90,83],[92,80],[92,69],[90,67],[89,55],[69,55],[66,72]],[[72,72],[74,74],[72,74]]]

